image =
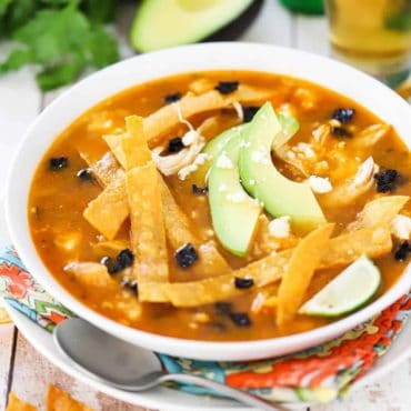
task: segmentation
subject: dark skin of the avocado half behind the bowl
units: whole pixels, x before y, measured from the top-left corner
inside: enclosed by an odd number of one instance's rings
[[[222,27],[220,30],[200,42],[237,40],[255,20],[263,2],[263,0],[254,0],[235,20],[230,21],[227,26]]]

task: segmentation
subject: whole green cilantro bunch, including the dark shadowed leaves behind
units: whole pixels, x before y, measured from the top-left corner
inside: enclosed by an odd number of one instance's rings
[[[36,64],[37,82],[47,91],[72,82],[87,68],[117,61],[117,41],[102,24],[114,17],[114,0],[0,0],[0,37],[18,42],[0,63],[0,74]]]

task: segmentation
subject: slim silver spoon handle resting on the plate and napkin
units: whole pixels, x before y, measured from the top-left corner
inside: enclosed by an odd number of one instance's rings
[[[257,408],[258,410],[264,410],[264,411],[290,411],[290,409],[284,408],[279,404],[271,404],[263,400],[260,400],[259,398],[251,395],[242,390],[238,390],[224,384],[221,384],[215,381],[208,380],[206,378],[197,377],[197,375],[190,375],[190,374],[162,374],[159,379],[159,382],[166,382],[166,381],[174,381],[174,382],[181,382],[187,384],[194,384],[200,387],[206,387],[208,389],[211,389],[213,391],[217,391],[219,393],[222,393],[227,397],[232,398],[233,400],[237,400],[239,402],[242,402],[243,404],[251,405],[253,408]]]

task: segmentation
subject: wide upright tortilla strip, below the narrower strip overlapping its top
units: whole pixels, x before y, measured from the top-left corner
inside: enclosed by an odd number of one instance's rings
[[[146,282],[167,282],[166,230],[161,204],[160,176],[153,161],[126,173],[130,207],[131,247],[136,254],[133,277]]]

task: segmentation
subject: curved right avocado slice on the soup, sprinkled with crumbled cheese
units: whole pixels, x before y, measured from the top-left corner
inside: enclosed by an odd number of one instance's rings
[[[239,170],[247,191],[262,202],[271,215],[290,215],[292,224],[300,230],[308,231],[324,223],[325,218],[310,187],[289,180],[272,163],[271,148],[277,139],[282,139],[282,133],[270,103],[257,112],[243,139]]]

